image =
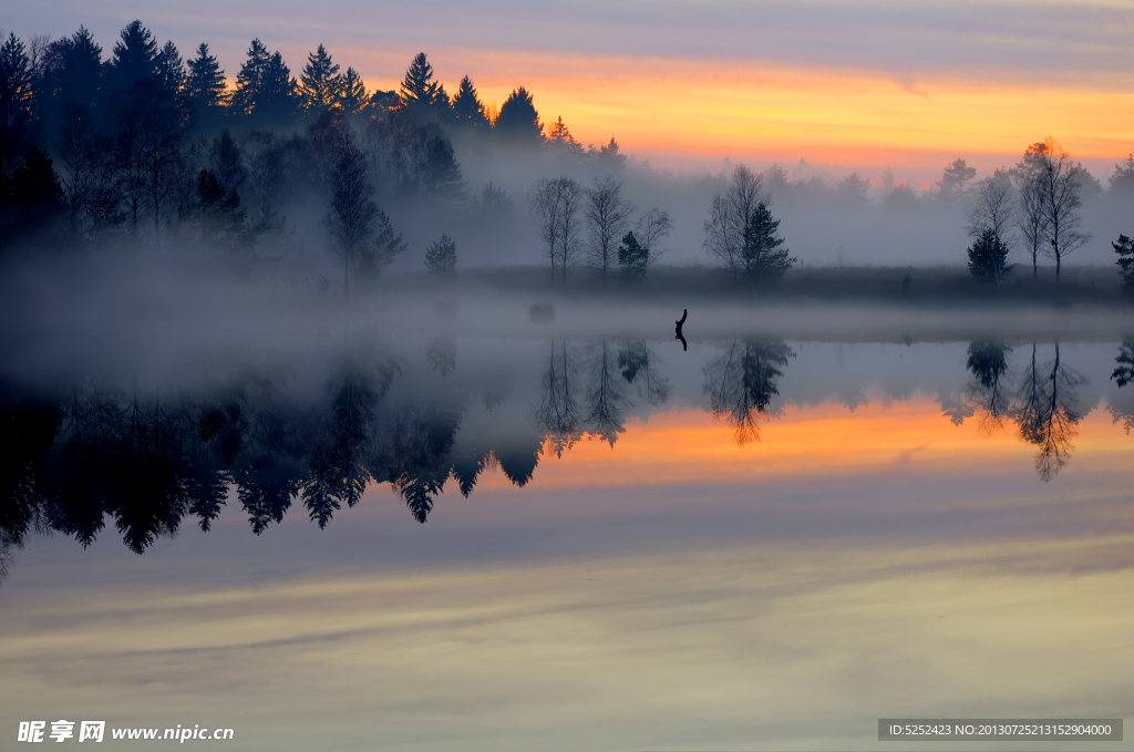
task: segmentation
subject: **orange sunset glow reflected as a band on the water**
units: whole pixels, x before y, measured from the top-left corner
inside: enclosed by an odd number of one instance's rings
[[[1105,411],[1078,424],[1072,470],[1134,470],[1131,437]],[[788,407],[759,428],[759,438],[738,442],[735,428],[703,411],[675,409],[633,420],[611,447],[584,437],[556,457],[544,442],[530,488],[728,483],[753,478],[839,476],[887,471],[1031,473],[1036,447],[1015,426],[988,434],[974,417],[956,425],[929,398],[854,412],[832,403]],[[503,490],[502,473],[489,473],[484,488]]]

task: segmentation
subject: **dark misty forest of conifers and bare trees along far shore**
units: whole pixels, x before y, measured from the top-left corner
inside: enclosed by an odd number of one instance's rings
[[[680,183],[642,166],[631,175],[613,137],[584,146],[561,117],[545,126],[523,86],[499,108],[468,76],[454,90],[424,53],[397,91],[372,92],[321,44],[293,75],[280,52],[253,40],[229,77],[206,43],[185,58],[139,20],[109,54],[83,27],[27,43],[9,34],[0,45],[0,248],[177,248],[243,269],[306,248],[325,260],[324,276],[349,286],[378,278],[412,242],[441,276],[472,248],[482,264],[544,263],[555,285],[572,269],[641,281],[672,237],[737,279],[769,281],[809,262],[796,236],[811,263],[828,260],[806,227],[794,230],[793,255],[784,212],[789,225],[833,216],[841,227],[830,233],[853,235],[858,226],[840,218],[869,210],[931,217],[930,233],[963,225],[971,245],[956,244],[956,262],[995,288],[1014,265],[1035,278],[1048,260],[1058,279],[1092,239],[1110,242],[1134,281],[1124,263],[1131,240],[1111,242],[1109,225],[1108,237],[1092,238],[1083,219],[1089,205],[1128,210],[1134,155],[1115,166],[1106,189],[1051,138],[981,180],[956,159],[931,189],[889,171],[880,186],[857,172],[807,177],[803,160],[795,179],[772,164]],[[489,175],[499,179],[482,179]],[[663,187],[643,188],[650,183]],[[669,205],[638,209],[632,189],[637,203]],[[908,245],[899,235],[895,243]],[[843,254],[839,245],[840,265]]]

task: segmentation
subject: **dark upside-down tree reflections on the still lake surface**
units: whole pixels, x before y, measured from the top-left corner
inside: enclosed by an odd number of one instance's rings
[[[631,419],[671,402],[672,374],[644,339],[536,347],[542,365],[516,375],[531,379],[518,396],[499,378],[482,395],[489,413],[518,406],[507,430],[468,431],[462,442],[473,398],[460,385],[457,345],[446,338],[424,346],[442,386],[396,399],[396,383],[417,380],[406,360],[357,344],[321,372],[314,395],[289,390],[287,369],[244,371],[194,389],[146,390],[137,380],[90,377],[50,392],[0,386],[0,549],[36,530],[88,546],[113,524],[142,554],[187,518],[208,531],[230,499],[256,534],[293,506],[323,527],[372,483],[389,483],[424,523],[450,483],[468,497],[493,467],[523,487],[541,457],[562,457],[584,438],[615,449]],[[761,428],[790,403],[780,391],[792,383],[797,350],[768,338],[708,349],[700,396],[682,397],[727,424],[737,445],[759,441]],[[1115,363],[1110,381],[1124,389],[1134,381],[1134,343],[1119,346]],[[963,404],[945,408],[942,399],[943,413],[955,423],[975,416],[984,436],[1017,433],[1035,447],[1039,478],[1051,480],[1068,463],[1089,412],[1078,394],[1086,377],[1067,364],[1059,343],[976,340],[964,366],[971,380],[960,387]],[[1109,409],[1128,432],[1131,412]]]

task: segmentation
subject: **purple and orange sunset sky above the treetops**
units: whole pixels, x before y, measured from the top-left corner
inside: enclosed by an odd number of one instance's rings
[[[209,42],[230,77],[254,36],[293,73],[323,43],[371,90],[425,51],[450,92],[467,74],[500,104],[524,85],[545,124],[677,169],[802,158],[930,180],[956,157],[985,171],[1052,136],[1105,177],[1134,151],[1129,1],[59,0],[3,25],[84,24],[109,53],[135,17],[183,53]]]

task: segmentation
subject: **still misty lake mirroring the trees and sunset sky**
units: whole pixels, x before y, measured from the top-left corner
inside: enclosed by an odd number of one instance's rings
[[[20,345],[0,747],[66,719],[116,749],[894,750],[881,717],[1134,716],[1119,338],[691,320],[685,350],[532,315]],[[913,749],[991,746],[1055,749]]]

